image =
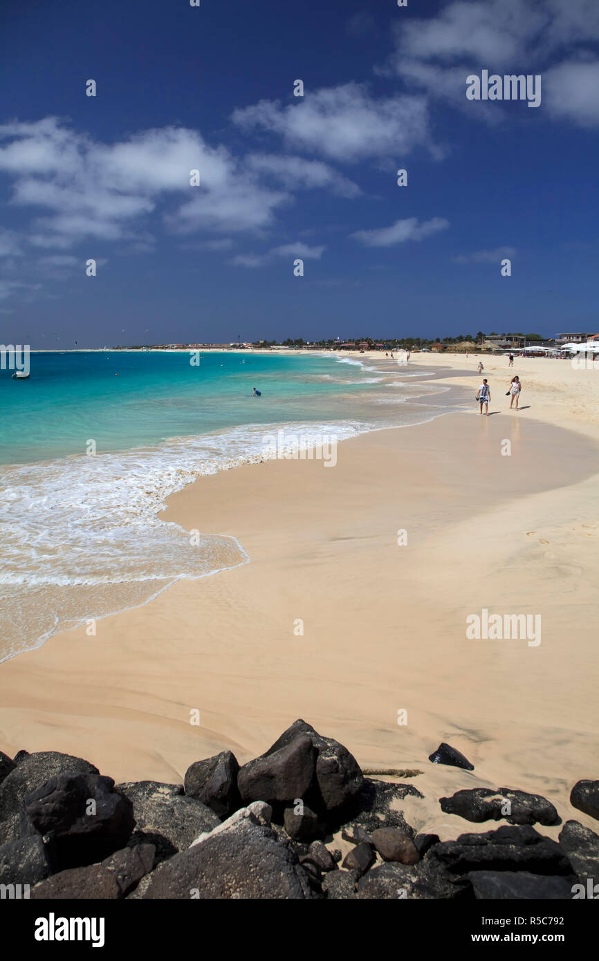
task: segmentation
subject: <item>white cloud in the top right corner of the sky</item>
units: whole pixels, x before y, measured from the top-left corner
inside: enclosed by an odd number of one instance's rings
[[[599,109],[596,61],[588,62],[587,48],[597,39],[597,0],[455,0],[436,17],[411,17],[397,27],[395,51],[377,72],[487,123],[501,122],[507,111],[467,101],[468,74],[540,74],[542,109],[590,127],[599,123]]]

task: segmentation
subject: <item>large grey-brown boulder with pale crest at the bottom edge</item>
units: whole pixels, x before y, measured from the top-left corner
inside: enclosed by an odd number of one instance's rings
[[[205,840],[163,861],[143,898],[312,898],[310,879],[293,850],[277,841],[268,825],[251,815],[235,821],[237,814],[233,824],[225,822]]]

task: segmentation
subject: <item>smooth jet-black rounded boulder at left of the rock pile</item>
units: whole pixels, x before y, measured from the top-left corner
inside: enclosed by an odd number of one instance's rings
[[[100,775],[51,777],[23,801],[21,835],[50,838],[59,871],[99,861],[122,848],[135,825],[131,801],[113,787]]]

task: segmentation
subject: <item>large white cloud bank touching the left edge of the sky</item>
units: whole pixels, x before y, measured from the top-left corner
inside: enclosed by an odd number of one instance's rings
[[[104,144],[55,117],[5,124],[0,170],[14,178],[12,204],[51,211],[34,222],[30,242],[59,249],[92,238],[147,250],[147,216],[166,197],[163,222],[176,233],[261,230],[292,199],[262,185],[225,147],[172,127]],[[191,170],[200,171],[200,186],[190,185]]]

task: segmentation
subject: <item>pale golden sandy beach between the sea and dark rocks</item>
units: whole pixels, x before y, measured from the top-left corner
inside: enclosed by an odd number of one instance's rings
[[[243,762],[303,717],[366,768],[422,772],[424,800],[405,805],[417,829],[487,829],[438,807],[477,785],[533,791],[592,826],[568,796],[597,776],[599,372],[483,357],[487,418],[478,360],[411,358],[467,387],[466,413],[344,441],[334,469],[271,461],[174,495],[164,520],[235,535],[251,562],[0,665],[0,749],[181,781],[192,761],[229,748]],[[540,615],[540,644],[467,639],[483,608]],[[475,771],[432,765],[440,741]]]

